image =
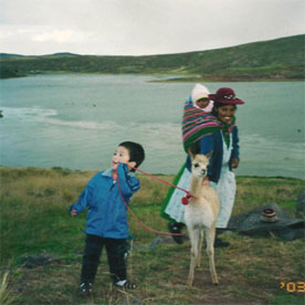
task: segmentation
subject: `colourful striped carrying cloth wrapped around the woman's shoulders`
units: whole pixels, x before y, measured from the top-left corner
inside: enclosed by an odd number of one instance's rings
[[[221,123],[211,113],[204,113],[200,108],[194,107],[191,98],[187,99],[182,118],[182,139],[185,150],[203,136],[211,135],[222,129],[224,134],[229,134],[235,125],[235,118],[227,125]]]

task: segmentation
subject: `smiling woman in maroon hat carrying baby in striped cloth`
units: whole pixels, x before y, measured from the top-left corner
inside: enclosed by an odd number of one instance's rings
[[[202,86],[203,87],[203,86]],[[203,92],[201,87],[201,93]],[[199,88],[199,84],[194,86]],[[193,88],[193,92],[194,92]],[[227,228],[235,198],[235,177],[232,169],[239,166],[239,135],[235,125],[236,105],[244,104],[235,97],[232,88],[221,87],[215,94],[208,94],[213,101],[212,112],[208,113],[198,107],[196,95],[187,101],[182,120],[182,137],[185,150],[196,145],[198,154],[212,151],[208,176],[204,183],[213,187],[220,197],[220,213],[217,220],[217,233]],[[197,105],[197,106],[196,106]],[[190,183],[190,158],[179,171],[175,185],[188,189]],[[183,225],[185,207],[181,198],[185,193],[177,189],[170,189],[161,210],[161,215],[170,220],[169,231],[180,233]],[[182,243],[182,238],[175,235],[177,243]],[[215,239],[215,246],[228,246],[228,242]]]

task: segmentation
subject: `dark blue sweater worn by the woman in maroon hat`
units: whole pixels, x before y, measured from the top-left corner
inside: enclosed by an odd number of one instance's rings
[[[240,146],[239,146],[239,129],[238,126],[234,126],[232,129],[232,154],[229,161],[229,167],[232,170],[231,160],[232,158],[240,158]],[[212,135],[204,136],[199,140],[200,154],[207,155],[210,151],[213,151],[210,164],[208,168],[208,176],[211,181],[218,182],[221,172],[222,166],[222,156],[223,156],[223,141],[221,132],[217,132]],[[191,160],[190,157],[187,158],[186,167],[191,170]]]

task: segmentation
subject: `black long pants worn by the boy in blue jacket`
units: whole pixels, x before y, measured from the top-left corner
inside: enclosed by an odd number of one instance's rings
[[[114,282],[127,278],[126,259],[129,245],[125,239],[106,239],[87,234],[83,256],[81,283],[94,282],[103,248],[106,248],[111,277]]]

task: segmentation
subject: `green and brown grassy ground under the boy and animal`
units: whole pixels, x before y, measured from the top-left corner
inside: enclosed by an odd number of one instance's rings
[[[193,286],[188,288],[189,241],[178,245],[164,236],[155,250],[148,251],[145,246],[156,235],[130,217],[135,249],[128,273],[138,288],[126,293],[112,286],[104,253],[94,297],[82,299],[75,291],[85,213],[72,219],[67,209],[94,172],[2,167],[0,173],[0,304],[135,304],[135,299],[143,304],[304,304],[304,239],[285,242],[274,236],[225,233],[223,239],[231,243],[230,248],[215,250],[220,285],[211,284],[204,254]],[[132,200],[134,212],[147,225],[167,231],[167,221],[159,217],[159,210],[168,187],[148,177],[139,178],[141,189]],[[173,177],[162,178],[171,181]],[[294,217],[297,196],[304,187],[304,181],[297,179],[239,177],[233,214],[276,202]],[[25,267],[22,257],[38,254],[59,260]]]

